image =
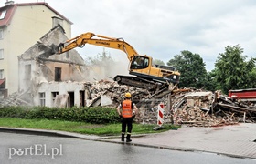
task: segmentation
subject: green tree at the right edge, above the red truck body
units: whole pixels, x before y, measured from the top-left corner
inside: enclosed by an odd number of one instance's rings
[[[248,56],[242,56],[242,53],[243,49],[239,45],[227,46],[215,63],[216,80],[226,94],[229,89],[256,87],[255,58],[246,61]]]

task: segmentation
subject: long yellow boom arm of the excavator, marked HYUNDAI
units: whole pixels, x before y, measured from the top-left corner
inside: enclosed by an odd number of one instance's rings
[[[93,33],[84,33],[80,36],[67,40],[65,43],[59,44],[58,54],[65,53],[75,47],[83,47],[85,44],[122,50],[126,53],[130,62],[133,60],[134,56],[138,55],[133,46],[126,43],[123,38],[112,38],[108,36],[95,35]]]

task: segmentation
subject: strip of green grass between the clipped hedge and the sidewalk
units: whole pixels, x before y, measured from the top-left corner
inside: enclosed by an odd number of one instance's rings
[[[120,135],[121,132],[121,123],[90,124],[85,122],[71,122],[48,119],[0,118],[0,127],[61,130],[81,134],[93,134],[98,136],[115,136]],[[154,127],[156,127],[156,125],[133,124],[133,134],[159,133],[169,129],[177,129],[180,126],[165,124],[165,128],[161,130],[154,130]]]

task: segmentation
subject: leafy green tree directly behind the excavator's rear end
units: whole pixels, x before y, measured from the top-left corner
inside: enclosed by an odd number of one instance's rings
[[[208,74],[200,55],[187,50],[181,51],[181,54],[174,56],[174,59],[169,60],[167,65],[176,67],[180,72],[179,87],[207,87]]]

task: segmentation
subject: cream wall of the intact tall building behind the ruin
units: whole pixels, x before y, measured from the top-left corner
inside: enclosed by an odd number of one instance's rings
[[[4,48],[4,60],[0,69],[5,70],[6,88],[12,94],[18,90],[18,59],[30,46],[52,28],[52,16],[59,16],[45,5],[17,6],[9,26],[4,30],[1,47]],[[63,20],[66,36],[71,37],[71,25]],[[22,70],[21,70],[22,71]]]

